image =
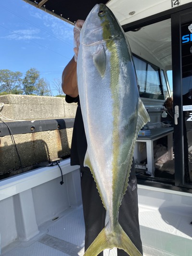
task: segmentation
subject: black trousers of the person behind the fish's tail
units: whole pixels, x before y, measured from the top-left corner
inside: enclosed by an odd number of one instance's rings
[[[95,240],[99,232],[105,227],[106,210],[102,204],[96,183],[90,171],[81,169],[81,189],[85,222],[85,251]],[[143,254],[138,219],[137,181],[134,169],[131,171],[128,189],[120,206],[119,222],[128,234],[133,244]],[[103,252],[99,254],[103,256]],[[126,252],[118,249],[118,256],[128,256]]]

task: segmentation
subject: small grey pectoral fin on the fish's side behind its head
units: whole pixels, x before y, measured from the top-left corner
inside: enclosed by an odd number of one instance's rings
[[[106,70],[106,53],[103,45],[94,53],[93,62],[101,77],[103,77]]]

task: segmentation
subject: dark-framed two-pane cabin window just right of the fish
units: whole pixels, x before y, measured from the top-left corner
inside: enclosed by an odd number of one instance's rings
[[[139,80],[140,97],[164,99],[164,90],[160,79],[160,69],[136,56],[133,56],[133,60]],[[167,86],[166,82],[163,86]],[[167,87],[165,91],[168,91]]]

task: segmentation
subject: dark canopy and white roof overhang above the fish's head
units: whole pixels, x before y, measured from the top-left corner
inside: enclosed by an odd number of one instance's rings
[[[85,20],[88,13],[100,0],[24,0],[36,8],[55,15],[64,21],[74,24],[78,19]],[[121,25],[128,24],[159,12],[167,11],[190,0],[102,0],[115,14]]]

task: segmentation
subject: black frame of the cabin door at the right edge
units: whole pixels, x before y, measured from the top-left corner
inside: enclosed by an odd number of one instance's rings
[[[175,185],[182,187],[191,187],[192,185],[184,184],[184,142],[183,142],[183,111],[182,111],[182,61],[181,61],[181,22],[182,19],[189,19],[189,13],[191,15],[192,8],[184,10],[182,12],[174,13],[171,15],[171,37],[174,38],[172,43],[172,61],[173,61],[173,92],[174,92],[174,106],[179,106],[179,122],[174,124],[174,133],[182,135],[180,138],[177,136],[175,140]],[[188,16],[187,16],[188,14]],[[181,154],[182,152],[182,154]],[[182,171],[180,171],[182,170]]]

